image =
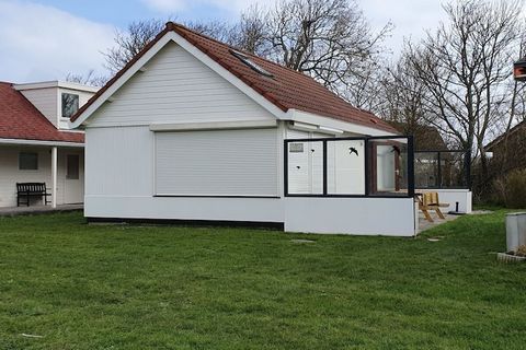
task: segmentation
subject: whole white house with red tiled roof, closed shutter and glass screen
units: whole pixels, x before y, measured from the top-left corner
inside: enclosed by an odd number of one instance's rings
[[[71,118],[89,221],[414,235],[411,138],[311,78],[167,27]]]

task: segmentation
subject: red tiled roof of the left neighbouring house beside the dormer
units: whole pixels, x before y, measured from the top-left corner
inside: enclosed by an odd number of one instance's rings
[[[12,83],[0,82],[0,139],[83,143],[84,135],[57,130]]]

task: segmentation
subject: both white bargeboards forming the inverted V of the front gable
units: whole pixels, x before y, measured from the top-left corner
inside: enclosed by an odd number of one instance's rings
[[[96,98],[95,102],[93,102],[93,104],[91,104],[77,120],[71,122],[71,127],[78,128],[81,124],[83,124],[96,109],[99,109],[99,107],[102,106],[104,102],[106,102],[118,89],[121,89],[121,86],[123,86],[135,73],[137,73],[137,71],[140,71],[142,67],[171,40],[181,46],[220,77],[226,79],[232,85],[238,88],[241,92],[268,110],[276,118],[282,119],[285,117],[285,112],[263,97],[252,88],[247,85],[239,78],[230,73],[227,69],[222,68],[219,63],[208,57],[208,55],[201,51],[175,32],[168,32],[148,51],[146,51],[142,57],[132,65],[132,67],[122,77],[119,77],[117,81],[115,81],[106,91],[104,91],[102,95],[100,95],[99,98]]]

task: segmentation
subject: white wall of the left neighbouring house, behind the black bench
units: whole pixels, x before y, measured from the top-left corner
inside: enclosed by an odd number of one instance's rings
[[[20,152],[38,154],[38,170],[20,170]],[[79,156],[79,178],[67,178],[67,156]],[[0,147],[0,207],[16,206],[16,183],[46,183],[52,187],[52,155],[50,148],[42,147]],[[83,152],[81,149],[64,148],[58,150],[58,183],[57,203],[79,203],[83,200]],[[49,190],[50,192],[50,190]],[[50,198],[48,198],[50,199]],[[32,205],[39,205],[42,200],[33,199]]]

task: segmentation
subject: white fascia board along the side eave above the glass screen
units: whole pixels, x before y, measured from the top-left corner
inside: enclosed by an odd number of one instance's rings
[[[396,136],[396,133],[389,131],[369,128],[334,118],[323,117],[298,109],[288,109],[286,115],[286,119],[288,120],[317,125],[321,127],[320,131],[322,131],[323,128],[329,128],[364,136]]]

